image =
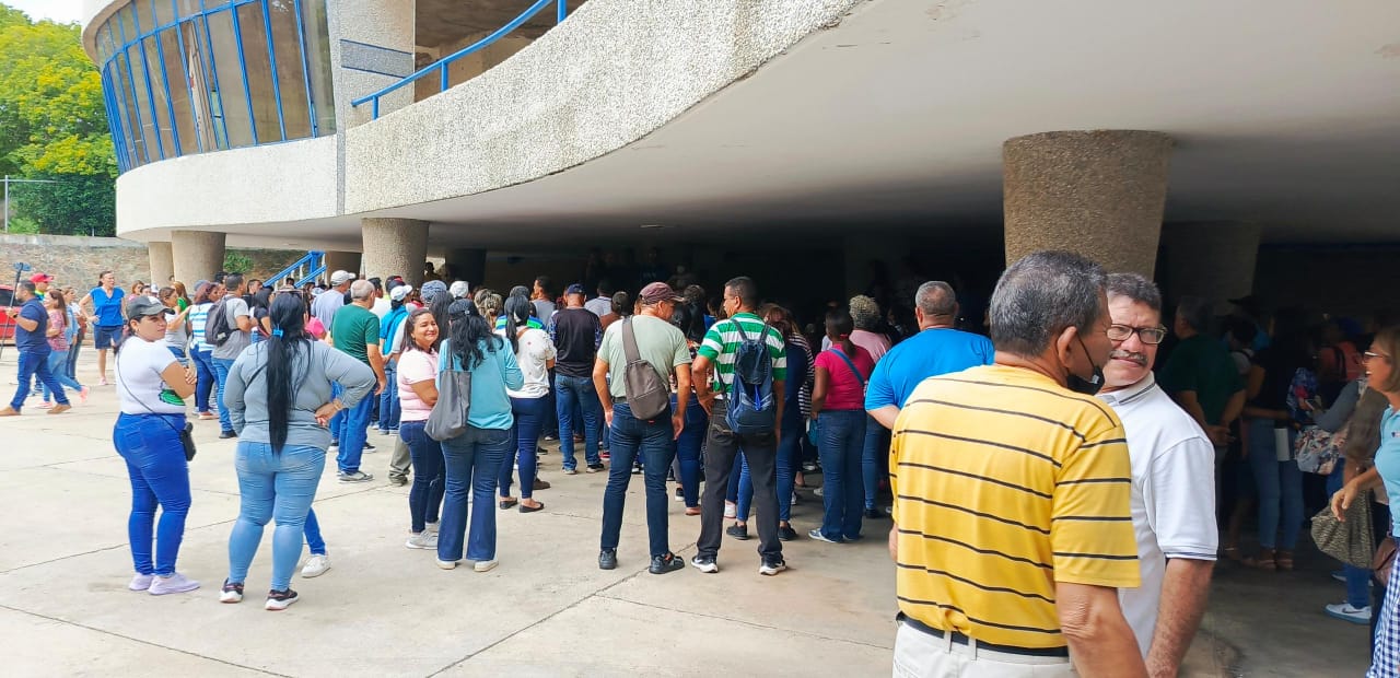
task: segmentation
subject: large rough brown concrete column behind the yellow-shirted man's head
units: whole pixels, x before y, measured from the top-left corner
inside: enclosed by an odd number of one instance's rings
[[[1002,146],[1007,263],[1070,249],[1148,277],[1166,202],[1172,137],[1159,132],[1046,132]]]

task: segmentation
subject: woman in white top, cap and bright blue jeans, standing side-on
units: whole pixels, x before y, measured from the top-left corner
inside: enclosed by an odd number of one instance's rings
[[[118,342],[116,398],[120,416],[112,443],[126,459],[132,479],[132,514],[126,523],[136,576],[132,591],[153,595],[193,591],[199,581],[175,570],[189,514],[189,462],[179,434],[195,375],[165,350],[165,318],[171,311],[148,298],[127,307],[127,336]],[[161,510],[155,525],[155,509]],[[151,542],[155,559],[151,560]]]

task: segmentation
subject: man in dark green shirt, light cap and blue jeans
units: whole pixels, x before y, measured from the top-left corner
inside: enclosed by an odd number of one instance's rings
[[[335,293],[328,293],[335,294]],[[326,294],[322,294],[325,297]],[[374,284],[368,280],[356,280],[350,286],[350,304],[336,311],[336,319],[330,325],[330,340],[336,350],[350,354],[356,360],[370,366],[378,380],[374,395],[379,395],[385,387],[384,353],[379,350],[379,317],[374,315]],[[340,395],[340,385],[332,388],[333,395]],[[374,398],[363,398],[358,405],[343,409],[330,420],[332,445],[337,445],[336,465],[340,469],[340,482],[365,482],[374,476],[360,471],[360,457],[365,450],[365,430],[370,426],[370,409]]]

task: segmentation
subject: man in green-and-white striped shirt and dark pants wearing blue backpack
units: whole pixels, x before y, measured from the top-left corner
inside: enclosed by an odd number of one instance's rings
[[[690,560],[700,572],[720,572],[715,558],[724,534],[724,493],[734,459],[743,448],[753,476],[753,504],[759,528],[759,574],[777,574],[787,569],[783,542],[778,541],[778,500],[776,492],[778,427],[783,422],[783,385],[787,380],[787,350],[783,335],[769,328],[753,310],[759,307],[759,289],[748,277],[724,284],[724,312],[728,319],[715,322],[696,350],[690,371],[700,406],[710,413],[704,452],[704,496],[700,500],[699,553]],[[750,339],[763,338],[773,359],[773,399],[777,426],[757,436],[741,436],[725,423],[727,398],[734,384],[734,361],[742,343],[739,326]],[[713,374],[711,374],[713,373]]]

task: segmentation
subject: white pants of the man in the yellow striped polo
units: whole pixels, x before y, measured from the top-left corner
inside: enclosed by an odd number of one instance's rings
[[[895,636],[895,678],[1064,678],[1075,677],[1067,657],[1032,657],[958,644],[907,623]]]

